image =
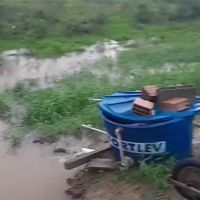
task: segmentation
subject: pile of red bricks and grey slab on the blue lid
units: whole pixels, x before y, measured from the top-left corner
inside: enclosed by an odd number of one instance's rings
[[[188,109],[196,99],[194,86],[176,85],[159,89],[156,85],[144,86],[141,98],[133,102],[133,111],[143,116],[155,114],[155,107],[179,112]]]

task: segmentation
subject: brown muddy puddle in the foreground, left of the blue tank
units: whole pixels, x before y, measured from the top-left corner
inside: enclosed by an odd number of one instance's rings
[[[66,178],[73,176],[77,169],[66,171],[60,162],[63,155],[54,154],[52,145],[33,144],[30,138],[12,151],[3,139],[7,129],[8,125],[0,122],[0,199],[67,200]],[[62,144],[68,145],[66,158],[91,144],[87,138],[70,137],[63,141]]]

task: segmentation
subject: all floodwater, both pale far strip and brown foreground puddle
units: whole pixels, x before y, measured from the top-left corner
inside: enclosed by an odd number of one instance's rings
[[[99,60],[116,60],[122,50],[116,41],[109,41],[88,47],[82,53],[50,59],[25,56],[22,53],[26,52],[24,49],[4,52],[1,55],[0,91],[26,80],[36,80],[41,88],[49,87],[54,79],[79,72]],[[73,176],[77,169],[66,171],[63,160],[73,157],[92,141],[88,138],[64,138],[60,143],[67,149],[65,156],[53,153],[54,145],[33,144],[30,138],[13,150],[4,138],[8,130],[9,125],[0,121],[0,199],[67,200],[64,193],[66,179]]]

